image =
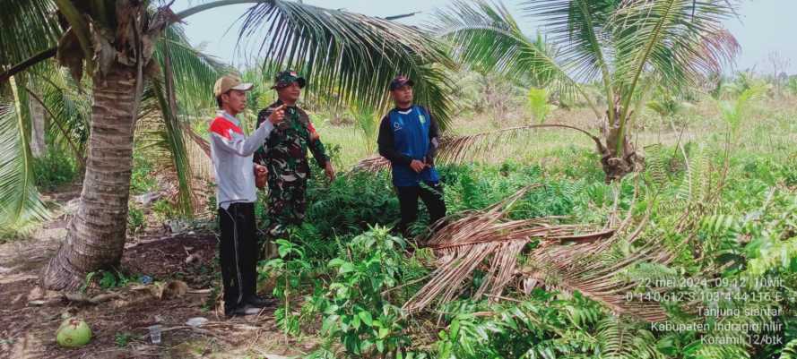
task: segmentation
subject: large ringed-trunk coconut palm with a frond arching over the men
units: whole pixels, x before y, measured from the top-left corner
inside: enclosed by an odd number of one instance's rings
[[[172,56],[157,56],[164,41],[169,42],[166,31],[172,23],[193,13],[241,3],[258,3],[247,13],[241,36],[268,29],[264,54],[272,56],[276,64],[312,76],[315,90],[334,88],[342,93],[344,103],[377,107],[386,103],[388,79],[395,73],[407,73],[419,83],[421,100],[436,110],[439,118],[446,119],[447,79],[438,66],[452,62],[437,41],[392,21],[277,0],[221,0],[177,14],[168,4],[154,8],[146,0],[2,0],[0,86],[12,83],[10,87],[19,88],[16,81],[9,81],[11,76],[24,78],[20,74],[55,56],[77,83],[87,83],[91,91],[80,203],[65,242],[43,271],[45,286],[74,288],[92,270],[119,263],[125,244],[134,129],[141,110],[146,108],[142,100],[148,91],[157,98],[170,129],[171,142],[176,145],[172,150],[180,152],[176,98],[185,89],[180,89],[174,77],[183,64]],[[169,54],[169,50],[163,53]],[[210,89],[204,82],[197,83]],[[19,91],[15,93],[19,103]],[[3,107],[0,118],[22,118],[20,112]],[[26,133],[23,125],[16,130]],[[9,143],[29,152],[27,139],[22,136],[22,140]],[[185,163],[186,158],[176,157],[175,162]],[[0,188],[9,188],[4,181],[28,185],[28,194],[22,197],[0,190],[0,201],[21,203],[15,218],[23,217],[25,209],[42,215],[28,180],[30,175],[0,173]],[[11,212],[3,208],[0,215]]]

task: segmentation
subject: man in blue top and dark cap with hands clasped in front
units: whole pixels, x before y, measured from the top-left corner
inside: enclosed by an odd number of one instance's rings
[[[390,82],[395,107],[382,118],[377,140],[379,154],[390,160],[393,170],[402,213],[399,229],[404,235],[418,217],[418,197],[429,209],[432,223],[446,217],[443,186],[434,166],[439,131],[429,110],[412,104],[413,85],[405,76]]]

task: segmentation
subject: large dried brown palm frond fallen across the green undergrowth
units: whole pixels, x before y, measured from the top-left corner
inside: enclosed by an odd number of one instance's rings
[[[671,252],[659,241],[648,241],[619,261],[599,261],[621,238],[613,229],[589,233],[583,226],[551,225],[550,218],[507,220],[512,204],[537,186],[528,186],[484,211],[449,219],[450,224],[440,228],[426,244],[440,255],[437,269],[403,309],[418,312],[436,300],[450,301],[461,292],[472,272],[483,266],[487,273],[473,295],[477,300],[481,295],[499,298],[504,287],[520,274],[567,293],[579,291],[616,314],[644,321],[665,320],[659,303],[627,298],[637,283],[617,275],[642,261],[667,264],[673,258]],[[624,240],[634,242],[645,223],[643,219],[637,228],[630,228],[633,230]],[[606,238],[611,239],[603,240]],[[517,269],[518,255],[533,239],[541,243],[529,254],[530,264]]]

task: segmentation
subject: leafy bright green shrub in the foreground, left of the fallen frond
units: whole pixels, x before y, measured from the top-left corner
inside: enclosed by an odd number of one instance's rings
[[[351,357],[396,355],[411,344],[398,303],[417,288],[386,293],[426,273],[418,262],[404,258],[405,246],[401,237],[375,227],[354,237],[341,257],[329,261],[327,269],[334,271],[332,282],[308,298],[308,306],[324,317],[321,334],[326,341],[321,353],[329,351],[335,341]]]

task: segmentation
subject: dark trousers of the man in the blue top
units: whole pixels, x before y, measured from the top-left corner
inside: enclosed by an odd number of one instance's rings
[[[396,186],[395,192],[399,198],[399,207],[402,211],[402,221],[399,222],[399,230],[407,234],[407,228],[418,218],[418,197],[429,209],[429,219],[431,223],[437,219],[446,217],[446,202],[443,201],[443,184],[427,184],[429,187]]]

